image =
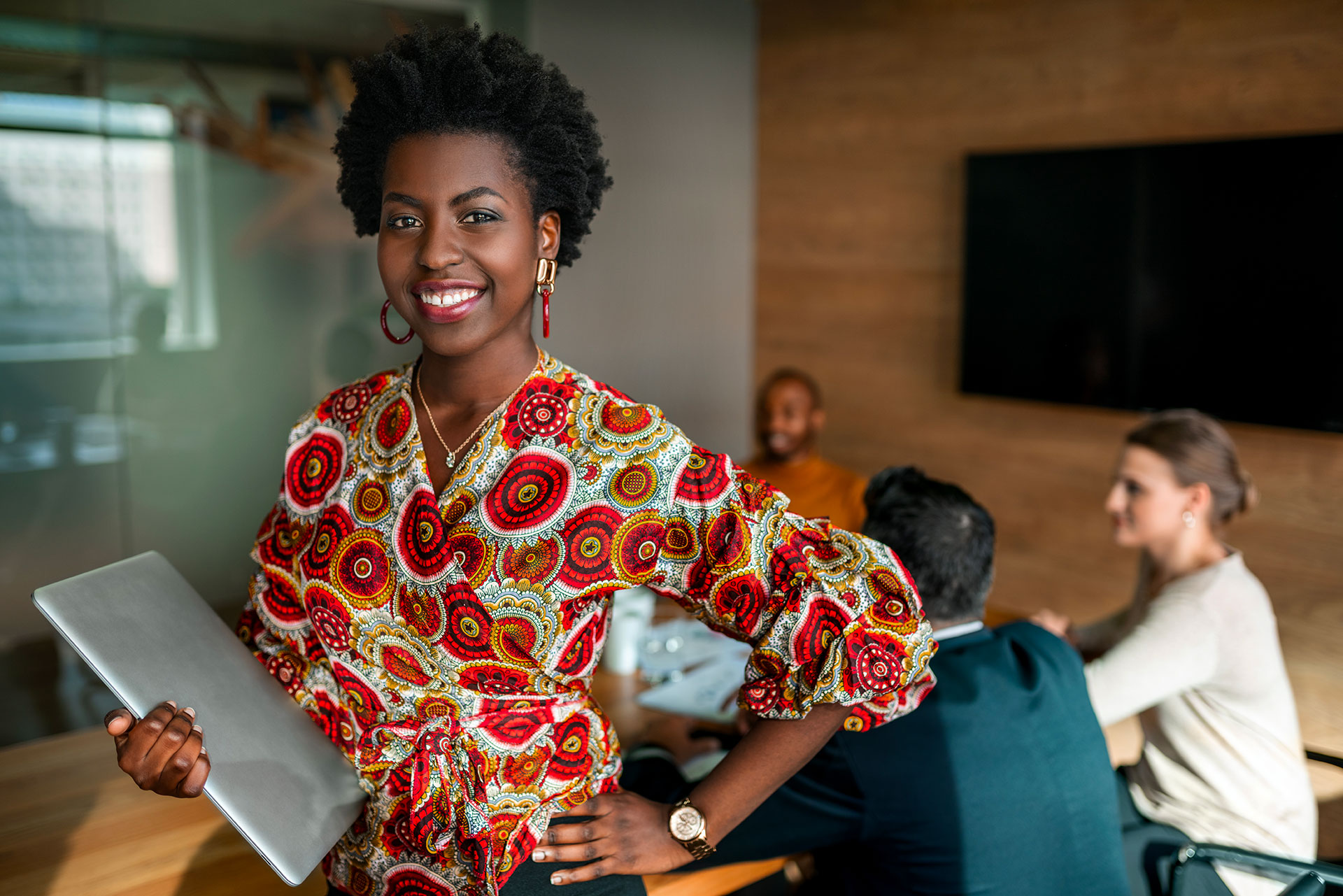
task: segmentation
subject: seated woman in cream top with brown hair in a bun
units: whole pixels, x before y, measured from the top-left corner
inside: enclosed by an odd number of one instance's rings
[[[1103,725],[1140,713],[1142,759],[1119,770],[1135,895],[1166,892],[1174,852],[1191,840],[1315,857],[1315,797],[1273,606],[1221,537],[1253,502],[1217,420],[1154,415],[1124,439],[1105,501],[1115,541],[1142,555],[1133,602],[1088,626],[1035,615],[1095,657],[1086,686]],[[1237,896],[1281,888],[1219,873]]]

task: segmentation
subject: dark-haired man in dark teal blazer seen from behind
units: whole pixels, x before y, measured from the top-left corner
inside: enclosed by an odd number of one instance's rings
[[[923,596],[937,684],[908,716],[835,733],[686,870],[811,852],[821,893],[1127,896],[1113,772],[1077,653],[1029,622],[982,622],[992,519],[913,467],[877,474],[865,501],[864,533],[896,551]],[[639,752],[626,789],[677,795],[673,766]]]

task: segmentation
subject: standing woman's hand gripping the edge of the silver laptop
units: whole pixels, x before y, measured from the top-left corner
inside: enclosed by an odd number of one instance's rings
[[[113,709],[103,719],[117,740],[117,764],[141,790],[184,798],[199,797],[210,775],[205,733],[195,721],[195,709],[177,709],[172,700],[138,721],[129,709]]]

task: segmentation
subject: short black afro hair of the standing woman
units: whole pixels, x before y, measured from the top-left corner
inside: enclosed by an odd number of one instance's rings
[[[489,134],[505,141],[532,195],[533,219],[560,215],[556,262],[572,265],[611,185],[596,117],[583,91],[535,52],[479,26],[393,38],[352,66],[356,95],[336,132],[336,189],[360,236],[379,231],[387,153],[410,134]]]

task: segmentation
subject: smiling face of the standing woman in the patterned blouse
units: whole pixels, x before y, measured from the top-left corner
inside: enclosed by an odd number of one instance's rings
[[[377,270],[427,351],[462,356],[505,333],[530,339],[536,263],[559,244],[559,215],[533,220],[500,138],[412,134],[387,153]]]

